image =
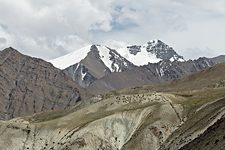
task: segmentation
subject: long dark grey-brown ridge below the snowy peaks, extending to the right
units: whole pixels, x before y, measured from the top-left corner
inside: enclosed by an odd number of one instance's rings
[[[149,63],[148,65],[135,67],[131,70],[112,73],[96,80],[88,89],[93,93],[104,93],[132,86],[172,81],[214,65],[216,65],[216,62],[213,59],[205,57],[184,62],[165,60],[154,64]]]

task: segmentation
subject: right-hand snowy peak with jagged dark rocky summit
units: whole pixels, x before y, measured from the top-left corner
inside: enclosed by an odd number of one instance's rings
[[[158,63],[162,60],[184,61],[183,57],[178,55],[172,47],[160,40],[149,41],[143,46],[127,46],[126,48],[117,49],[117,51],[136,66]]]

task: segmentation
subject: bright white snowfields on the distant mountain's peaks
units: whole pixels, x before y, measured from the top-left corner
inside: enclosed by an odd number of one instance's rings
[[[116,51],[119,53],[119,55],[121,55],[123,58],[125,58],[126,60],[128,60],[129,62],[131,62],[132,64],[136,66],[147,65],[148,63],[158,63],[162,59],[157,58],[157,54],[147,51],[147,47],[149,49],[154,48],[154,46],[156,46],[158,42],[161,42],[161,41],[152,40],[148,42],[148,44],[145,44],[143,46],[137,46],[139,47],[139,49],[137,49],[138,52],[136,54],[132,54],[128,47],[118,48],[116,49]],[[109,68],[111,72],[116,72],[117,70],[119,70],[119,68],[116,66],[118,64],[114,64],[114,67],[112,67],[113,61],[111,60],[111,57],[112,57],[110,54],[111,50],[107,46],[103,46],[103,45],[95,45],[95,46],[98,48],[100,59],[105,64],[105,66]],[[169,48],[168,45],[166,45],[166,47]],[[51,62],[55,67],[59,69],[65,69],[71,65],[79,63],[82,59],[84,59],[88,55],[88,52],[90,52],[90,50],[91,50],[91,45],[81,48],[79,50],[75,50],[72,53],[69,53],[62,57],[50,60],[49,62]],[[167,52],[168,51],[166,51],[166,53]],[[178,58],[176,55],[170,58],[170,61],[175,61],[175,60],[184,61],[184,59]]]

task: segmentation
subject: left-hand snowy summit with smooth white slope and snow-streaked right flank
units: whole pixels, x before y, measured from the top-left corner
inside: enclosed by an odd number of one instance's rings
[[[57,68],[65,69],[85,59],[91,51],[95,53],[95,59],[99,59],[111,72],[120,72],[121,67],[129,63],[116,50],[104,45],[89,45],[49,62]]]

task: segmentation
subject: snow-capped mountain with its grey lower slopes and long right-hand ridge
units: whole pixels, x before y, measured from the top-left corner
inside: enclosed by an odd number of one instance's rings
[[[171,81],[225,62],[225,56],[185,60],[160,40],[112,49],[91,45],[50,61],[92,93]]]

